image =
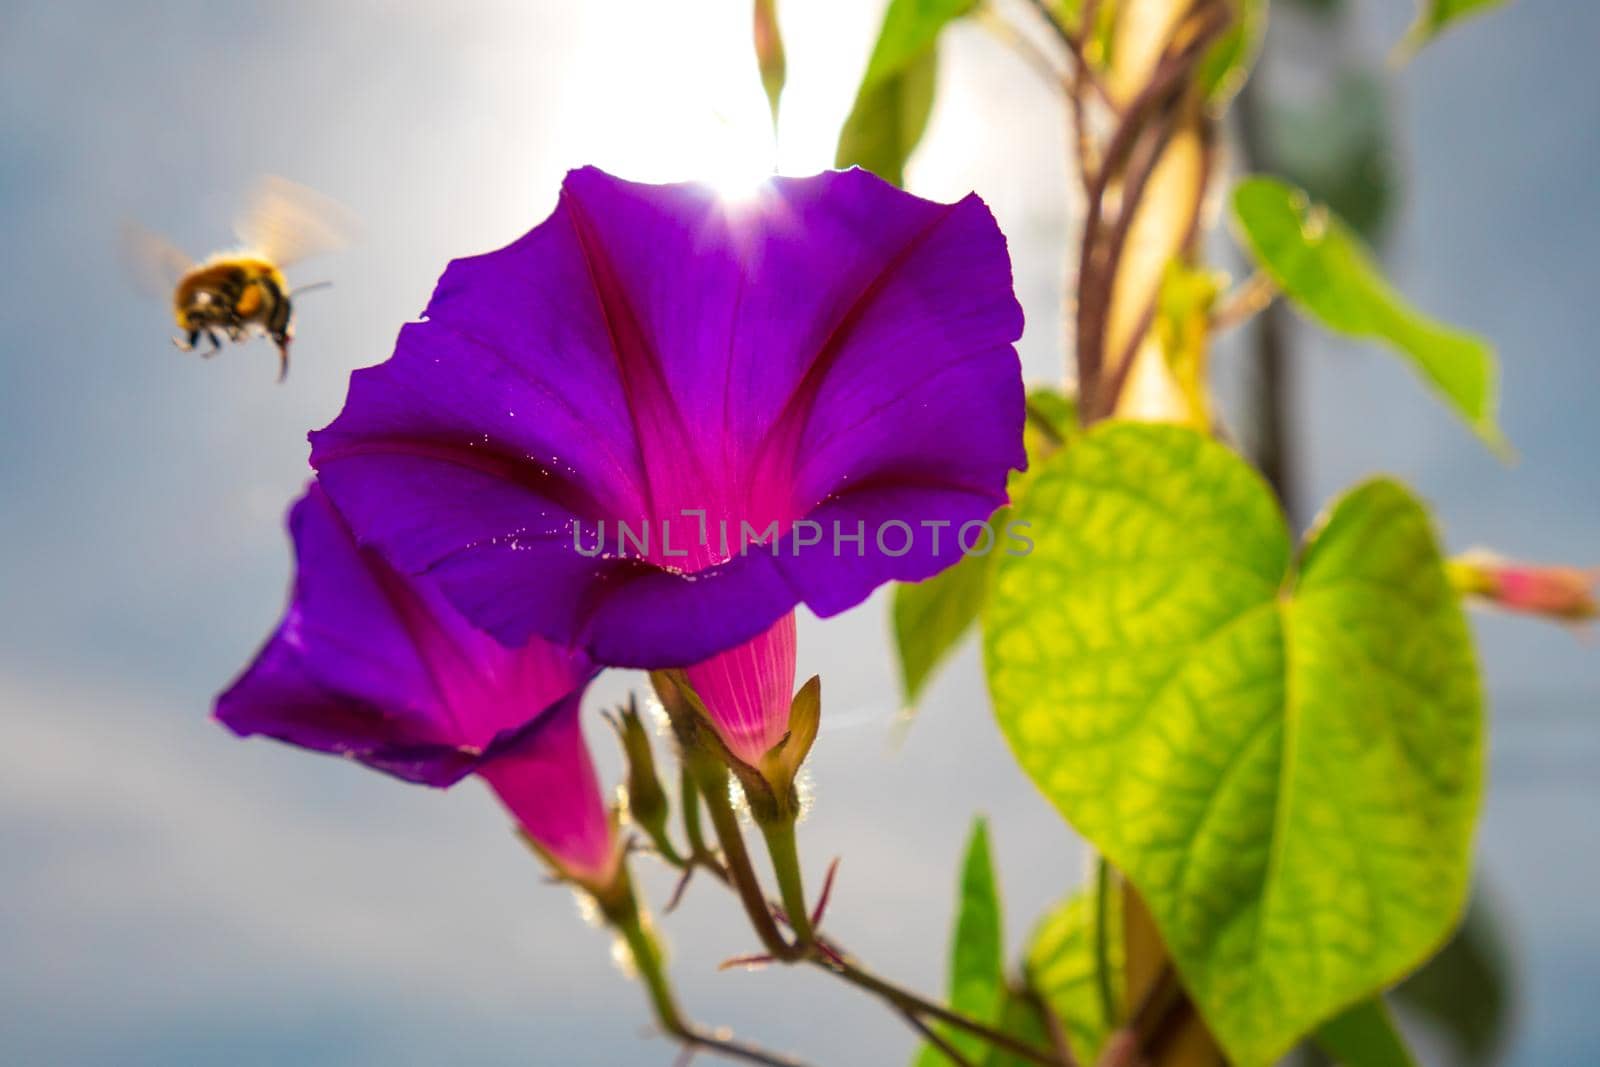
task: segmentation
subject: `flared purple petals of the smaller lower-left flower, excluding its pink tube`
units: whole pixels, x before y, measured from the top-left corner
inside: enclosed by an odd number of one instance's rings
[[[283,622],[218,699],[218,718],[448,785],[522,737],[587,667],[544,641],[507,649],[426,579],[357,547],[315,485],[290,515],[296,579]]]

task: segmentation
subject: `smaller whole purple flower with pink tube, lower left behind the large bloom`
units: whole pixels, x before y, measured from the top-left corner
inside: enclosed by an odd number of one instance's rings
[[[218,718],[410,782],[477,773],[563,869],[608,880],[618,849],[578,725],[582,657],[538,638],[510,649],[474,629],[427,579],[357,547],[315,485],[290,531],[288,611],[218,697]]]

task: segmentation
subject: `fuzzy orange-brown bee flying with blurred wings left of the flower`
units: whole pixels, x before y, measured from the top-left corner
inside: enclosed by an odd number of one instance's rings
[[[283,269],[346,243],[349,216],[334,202],[283,178],[264,178],[234,227],[238,246],[194,262],[181,250],[141,226],[125,227],[123,245],[141,283],[170,296],[179,336],[173,344],[192,352],[205,339],[210,358],[222,338],[242,342],[264,334],[278,349],[278,381],[290,373],[294,301]]]

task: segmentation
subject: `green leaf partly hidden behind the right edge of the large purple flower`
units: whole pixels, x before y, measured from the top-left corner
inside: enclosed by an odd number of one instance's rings
[[[1027,427],[1022,434],[1029,466],[1037,466],[1043,456],[1059,448],[1077,426],[1078,413],[1072,397],[1050,387],[1030,390]],[[1013,501],[1021,499],[1026,483],[1026,472],[1011,475],[1008,490]],[[934,670],[960,646],[978,621],[995,560],[1011,545],[1005,537],[1011,518],[1010,507],[990,517],[989,525],[998,542],[987,555],[963,557],[955,566],[933,577],[894,587],[894,649],[899,653],[901,693],[907,707],[915,707],[922,701]]]

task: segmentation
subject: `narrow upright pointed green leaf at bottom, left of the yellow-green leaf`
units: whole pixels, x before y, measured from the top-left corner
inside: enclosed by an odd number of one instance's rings
[[[962,864],[960,907],[950,933],[950,1008],[997,1022],[1005,1008],[1005,939],[1000,929],[1000,894],[989,859],[989,824],[973,821]],[[989,1048],[981,1038],[957,1030],[941,1030],[944,1038],[968,1059],[981,1059]],[[925,1046],[917,1067],[946,1067],[944,1053]]]

